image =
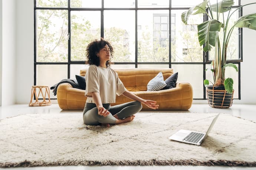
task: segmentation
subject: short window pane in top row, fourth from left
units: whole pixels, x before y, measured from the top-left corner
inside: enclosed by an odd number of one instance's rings
[[[138,0],[138,8],[168,8],[169,0]]]

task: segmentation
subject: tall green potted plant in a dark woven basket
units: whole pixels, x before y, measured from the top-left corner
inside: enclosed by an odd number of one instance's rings
[[[199,44],[204,45],[203,50],[205,52],[214,49],[215,55],[211,62],[213,68],[209,69],[213,74],[214,82],[211,82],[213,86],[209,86],[210,81],[207,79],[204,80],[204,86],[207,88],[209,105],[216,108],[229,108],[233,101],[233,79],[225,78],[225,68],[233,67],[236,71],[238,70],[233,63],[226,63],[227,48],[234,27],[256,30],[256,13],[242,16],[234,23],[229,22],[235,11],[256,3],[245,4],[231,11],[233,4],[234,0],[222,0],[215,4],[211,4],[209,0],[204,0],[201,4],[191,7],[181,14],[181,20],[184,24],[187,24],[191,15],[205,14],[209,18],[208,21],[197,25],[197,35]],[[195,12],[193,13],[193,11]],[[225,18],[223,13],[226,12],[228,14]],[[228,29],[228,26],[231,27]],[[220,35],[221,29],[223,29],[223,34]],[[222,41],[220,41],[220,36],[222,36]]]

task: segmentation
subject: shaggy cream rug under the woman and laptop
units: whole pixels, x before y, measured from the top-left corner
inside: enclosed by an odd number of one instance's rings
[[[83,124],[82,113],[0,120],[0,167],[59,165],[256,166],[256,123],[220,114],[201,146],[168,139],[206,132],[214,113],[137,113],[132,122]]]

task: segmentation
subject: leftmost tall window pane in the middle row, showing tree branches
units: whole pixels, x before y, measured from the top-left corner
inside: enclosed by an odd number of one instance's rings
[[[37,10],[36,21],[36,61],[68,62],[68,10]]]

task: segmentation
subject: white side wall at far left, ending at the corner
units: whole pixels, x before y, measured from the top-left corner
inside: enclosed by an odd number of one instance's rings
[[[16,101],[15,4],[15,0],[2,0],[2,106]]]

